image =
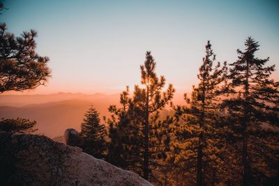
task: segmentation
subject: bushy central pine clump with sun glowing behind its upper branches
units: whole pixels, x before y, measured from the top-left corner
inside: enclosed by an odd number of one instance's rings
[[[146,180],[151,175],[150,166],[156,171],[160,162],[158,160],[166,157],[169,144],[167,123],[160,121],[159,116],[174,95],[172,84],[169,84],[167,91],[162,91],[165,77],[161,76],[159,79],[155,67],[156,62],[151,52],[146,52],[146,61],[140,66],[144,88],[136,85],[133,98],[128,98],[128,91],[124,91],[121,94],[123,108],[110,107],[111,144],[118,144],[114,147],[122,152],[122,155],[118,155],[121,160],[123,157],[130,157],[123,164],[140,169],[140,175]]]

